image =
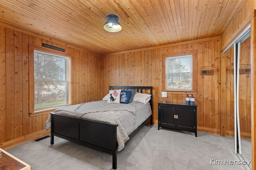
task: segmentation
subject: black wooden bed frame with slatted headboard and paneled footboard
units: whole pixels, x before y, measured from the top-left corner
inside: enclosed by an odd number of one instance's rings
[[[134,89],[142,93],[143,90],[150,90],[152,95],[152,86],[109,86],[109,90],[114,89]],[[152,96],[150,106],[152,109]],[[152,109],[153,110],[153,109]],[[54,136],[75,142],[87,147],[112,154],[112,168],[117,168],[117,139],[116,127],[117,124],[104,123],[100,121],[93,121],[81,119],[77,117],[70,117],[67,115],[60,115],[57,113],[51,114],[51,144],[54,144]],[[153,124],[152,115],[148,117],[137,129],[130,135],[131,139],[144,125],[150,121]],[[130,141],[130,139],[128,141]],[[126,144],[128,143],[126,141]]]

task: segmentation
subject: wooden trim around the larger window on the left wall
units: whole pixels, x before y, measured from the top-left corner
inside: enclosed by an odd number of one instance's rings
[[[48,109],[42,109],[42,110],[37,110],[35,111],[35,106],[34,106],[34,50],[38,51],[43,51],[46,53],[52,53],[54,55],[62,55],[64,57],[69,58],[69,70],[68,70],[68,77],[69,77],[69,82],[70,82],[70,89],[69,89],[69,103],[72,104],[72,77],[71,77],[71,63],[72,63],[72,58],[74,58],[73,54],[62,52],[62,51],[56,51],[54,49],[48,49],[46,47],[42,47],[39,45],[34,45],[34,44],[29,44],[29,54],[28,54],[28,64],[29,64],[29,113],[30,114],[38,114],[38,113],[44,113],[46,111],[51,111],[54,109],[48,108]]]

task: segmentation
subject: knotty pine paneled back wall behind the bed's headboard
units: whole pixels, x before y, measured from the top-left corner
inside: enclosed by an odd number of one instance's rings
[[[162,101],[162,54],[197,50],[196,92],[198,105],[198,130],[220,133],[220,48],[219,37],[170,44],[164,47],[140,49],[104,55],[103,95],[108,86],[153,86],[153,118],[158,122],[158,102]],[[200,75],[202,66],[214,66],[214,75]],[[102,97],[104,97],[102,95]],[[185,102],[186,92],[168,92],[168,102]]]

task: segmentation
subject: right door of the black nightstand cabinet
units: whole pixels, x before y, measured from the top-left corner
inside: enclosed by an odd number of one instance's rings
[[[195,111],[194,107],[176,106],[176,127],[181,130],[194,132],[195,129]]]

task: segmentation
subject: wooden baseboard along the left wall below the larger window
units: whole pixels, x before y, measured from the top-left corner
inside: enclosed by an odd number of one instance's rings
[[[8,141],[8,142],[5,142],[5,143],[0,143],[0,148],[6,150],[6,149],[9,149],[11,147],[15,147],[17,145],[20,145],[22,143],[32,141],[32,140],[35,140],[35,139],[39,139],[39,138],[44,137],[44,136],[49,135],[49,134],[50,134],[50,130],[47,131],[47,132],[45,130],[42,130],[42,131],[32,133],[32,134],[24,136],[24,137],[14,139],[12,141]]]

